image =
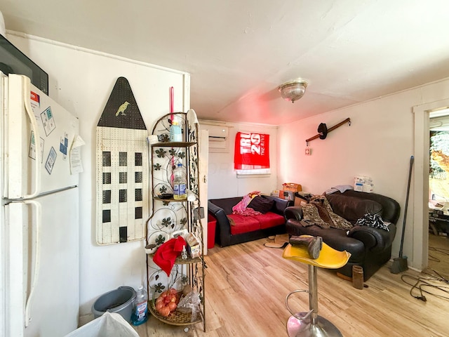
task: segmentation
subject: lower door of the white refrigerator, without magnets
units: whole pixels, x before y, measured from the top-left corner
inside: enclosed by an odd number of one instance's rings
[[[11,336],[65,336],[78,326],[78,187],[5,206]]]

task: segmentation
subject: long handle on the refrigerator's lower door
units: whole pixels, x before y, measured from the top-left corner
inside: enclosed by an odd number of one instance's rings
[[[34,288],[37,284],[37,279],[39,278],[39,270],[41,268],[41,204],[39,202],[34,200],[25,200],[20,201],[23,204],[30,204],[34,206],[36,209],[36,216],[34,217],[36,219],[36,237],[34,242],[34,266],[33,266],[33,275],[32,279],[30,279],[30,288],[29,288],[29,295],[25,303],[25,327],[29,325],[29,322],[31,322],[31,305],[32,305],[32,298],[34,295]]]

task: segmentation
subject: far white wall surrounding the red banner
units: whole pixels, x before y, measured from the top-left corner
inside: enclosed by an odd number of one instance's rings
[[[206,124],[208,121],[200,121]],[[277,186],[277,127],[258,124],[226,123],[229,126],[229,152],[209,152],[208,199],[242,197],[252,191],[269,194]],[[269,134],[271,174],[252,178],[237,178],[234,170],[234,142],[237,132]]]

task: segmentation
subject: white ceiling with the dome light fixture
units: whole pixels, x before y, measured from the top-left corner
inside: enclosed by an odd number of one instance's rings
[[[447,0],[0,0],[0,11],[7,30],[189,72],[200,119],[286,124],[449,77]],[[292,104],[277,87],[296,78],[309,86]]]

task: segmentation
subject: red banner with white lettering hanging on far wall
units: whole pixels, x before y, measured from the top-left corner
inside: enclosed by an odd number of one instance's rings
[[[269,135],[238,132],[234,151],[234,169],[269,169]]]

